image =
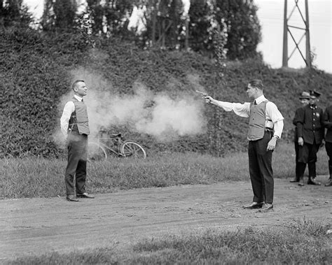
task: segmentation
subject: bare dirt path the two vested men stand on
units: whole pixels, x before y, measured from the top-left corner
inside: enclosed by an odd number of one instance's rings
[[[327,176],[319,176],[326,182]],[[15,257],[131,244],[142,238],[208,228],[279,227],[294,219],[332,220],[331,187],[275,180],[270,213],[244,210],[250,182],[135,189],[97,194],[71,203],[62,198],[0,201],[0,264]]]

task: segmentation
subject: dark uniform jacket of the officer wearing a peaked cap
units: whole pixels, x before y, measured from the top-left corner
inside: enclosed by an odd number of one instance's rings
[[[299,108],[293,124],[296,124],[298,137],[302,137],[305,143],[320,145],[324,139],[324,113],[317,106],[308,104]]]

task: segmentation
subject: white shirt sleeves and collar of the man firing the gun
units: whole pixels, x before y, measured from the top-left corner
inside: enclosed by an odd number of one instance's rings
[[[256,103],[262,103],[263,101],[266,101],[264,95],[258,96],[256,99]],[[216,101],[215,102],[217,106],[223,108],[225,111],[234,111],[236,115],[239,115],[240,117],[249,117],[250,116],[250,102],[245,103],[230,103],[225,101]],[[282,117],[282,113],[278,110],[277,106],[275,106],[275,103],[272,103],[271,101],[268,101],[266,103],[266,110],[265,115],[268,120],[272,120],[273,122],[273,129],[275,130],[275,136],[281,137],[282,136],[282,129],[284,129],[284,117]]]

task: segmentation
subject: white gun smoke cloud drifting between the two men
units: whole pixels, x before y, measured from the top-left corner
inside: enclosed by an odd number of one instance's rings
[[[154,136],[158,141],[170,141],[179,136],[202,134],[206,131],[203,115],[204,101],[195,89],[202,89],[198,78],[188,76],[193,86],[187,93],[174,95],[155,94],[141,83],[134,83],[132,94],[119,94],[102,76],[78,69],[72,72],[73,80],[83,79],[88,87],[84,101],[88,107],[92,136],[100,128],[126,125],[134,131]],[[71,99],[73,92],[62,97],[59,110]],[[118,131],[113,131],[118,133]]]

